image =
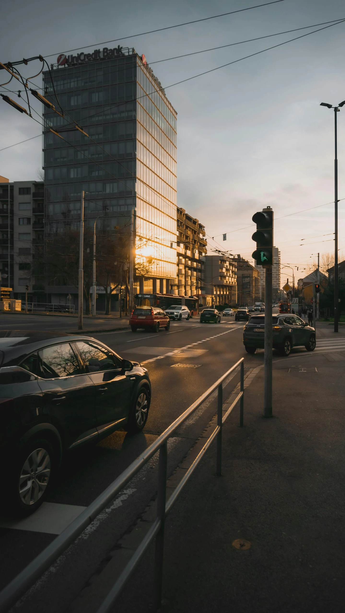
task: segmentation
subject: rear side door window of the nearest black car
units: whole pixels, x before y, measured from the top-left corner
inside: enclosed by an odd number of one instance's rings
[[[53,345],[39,351],[38,374],[42,379],[55,379],[83,373],[69,343]]]

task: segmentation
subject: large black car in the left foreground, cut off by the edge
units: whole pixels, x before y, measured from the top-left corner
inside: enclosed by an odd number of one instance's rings
[[[145,426],[148,371],[93,338],[1,331],[0,364],[1,511],[36,511],[65,450]]]

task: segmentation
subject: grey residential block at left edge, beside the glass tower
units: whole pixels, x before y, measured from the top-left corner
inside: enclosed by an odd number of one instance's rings
[[[44,183],[0,177],[1,285],[13,288],[13,297],[45,302],[42,247],[44,244]],[[39,256],[39,251],[41,249]]]

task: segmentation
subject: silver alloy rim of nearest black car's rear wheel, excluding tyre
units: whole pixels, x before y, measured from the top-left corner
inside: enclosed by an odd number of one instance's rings
[[[45,449],[35,449],[25,460],[19,478],[19,495],[24,504],[35,504],[45,492],[50,478],[50,457]]]

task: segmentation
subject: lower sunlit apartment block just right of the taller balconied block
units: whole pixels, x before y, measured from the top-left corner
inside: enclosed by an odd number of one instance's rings
[[[211,296],[211,304],[237,303],[237,263],[231,257],[221,254],[205,256],[202,293]]]

